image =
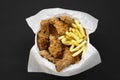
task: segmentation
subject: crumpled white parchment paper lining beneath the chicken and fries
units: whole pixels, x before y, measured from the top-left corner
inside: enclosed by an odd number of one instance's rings
[[[69,15],[70,17],[77,19],[84,26],[88,35],[88,45],[87,51],[82,56],[82,59],[79,61],[79,63],[70,65],[69,67],[64,68],[61,72],[57,72],[53,63],[39,55],[36,39],[37,32],[40,30],[40,21],[60,15]],[[99,52],[89,42],[89,34],[96,30],[98,24],[98,19],[92,17],[91,15],[81,11],[62,8],[49,8],[41,10],[37,14],[27,18],[26,21],[29,27],[35,33],[35,44],[31,48],[29,55],[28,72],[44,72],[58,76],[72,76],[101,63]]]

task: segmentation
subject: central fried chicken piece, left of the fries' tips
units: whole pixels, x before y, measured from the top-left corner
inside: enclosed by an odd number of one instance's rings
[[[49,52],[51,55],[55,58],[58,58],[62,55],[62,42],[55,38],[55,36],[50,35],[50,46],[49,46]]]

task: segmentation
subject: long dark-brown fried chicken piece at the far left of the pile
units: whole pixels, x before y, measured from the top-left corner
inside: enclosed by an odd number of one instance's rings
[[[40,50],[45,50],[49,46],[49,21],[41,21],[41,30],[38,32],[38,47]]]

